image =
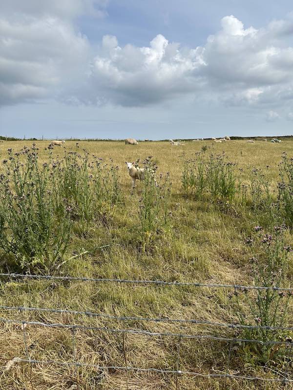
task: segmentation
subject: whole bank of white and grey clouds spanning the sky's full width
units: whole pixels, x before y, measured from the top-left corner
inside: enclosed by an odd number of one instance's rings
[[[263,107],[272,121],[275,107],[289,106],[293,98],[290,18],[256,29],[226,16],[205,45],[193,48],[161,34],[141,47],[122,46],[119,37],[106,35],[94,52],[73,19],[105,11],[107,1],[70,0],[72,7],[66,7],[68,1],[11,2],[25,17],[15,20],[11,6],[10,17],[0,20],[0,104],[50,97],[70,104],[144,106],[189,94]]]

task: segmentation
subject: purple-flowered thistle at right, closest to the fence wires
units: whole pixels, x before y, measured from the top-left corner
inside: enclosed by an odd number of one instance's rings
[[[251,275],[255,286],[264,289],[248,291],[235,289],[233,307],[239,322],[246,326],[257,326],[243,329],[244,338],[260,340],[263,343],[273,340],[286,341],[292,334],[282,330],[271,330],[271,327],[285,327],[287,323],[288,305],[293,292],[278,291],[282,287],[288,266],[289,254],[293,251],[284,242],[285,225],[274,227],[274,232],[264,233],[261,226],[254,228],[254,237],[246,239],[255,253],[251,257]],[[284,287],[284,286],[283,286]],[[286,346],[272,344],[246,343],[244,349],[262,364],[277,356],[286,354]]]

